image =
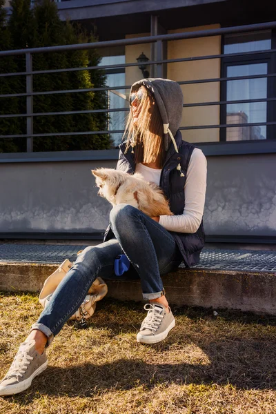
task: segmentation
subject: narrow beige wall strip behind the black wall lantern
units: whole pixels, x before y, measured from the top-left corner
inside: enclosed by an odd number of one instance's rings
[[[128,34],[126,35],[126,39],[146,36],[150,36],[150,33]],[[144,52],[146,57],[150,59],[150,43],[126,46],[126,63],[137,62],[136,59],[141,55],[141,52]],[[150,70],[149,67],[148,70]],[[129,68],[126,68],[126,85],[132,85],[132,83],[139,81],[140,79],[143,79],[143,75],[138,66],[130,66]],[[129,90],[126,90],[126,93],[128,94]]]

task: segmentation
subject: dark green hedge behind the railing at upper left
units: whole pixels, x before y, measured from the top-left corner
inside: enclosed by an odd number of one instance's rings
[[[30,0],[12,0],[12,14],[6,19],[4,0],[0,0],[0,50],[36,48],[95,41],[81,26],[59,19],[56,3],[41,0],[30,8]],[[97,66],[101,58],[96,50],[72,50],[35,54],[33,70]],[[0,59],[0,73],[26,70],[24,56]],[[26,77],[1,77],[0,94],[26,92]],[[103,70],[81,70],[33,75],[34,92],[99,88],[106,85]],[[37,95],[34,112],[63,112],[103,109],[108,106],[106,92],[78,92]],[[26,98],[0,98],[0,114],[26,113]],[[108,115],[50,115],[34,117],[34,133],[106,130]],[[0,119],[0,135],[26,134],[26,118]],[[34,138],[34,151],[98,150],[110,148],[109,135],[68,135]],[[0,139],[0,152],[26,151],[26,138]]]

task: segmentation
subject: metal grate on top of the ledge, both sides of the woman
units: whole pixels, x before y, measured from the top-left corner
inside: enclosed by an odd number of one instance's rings
[[[60,244],[0,244],[0,262],[60,264],[66,258],[73,262],[77,252],[85,247]],[[205,248],[200,258],[200,264],[194,268],[276,272],[276,251]]]

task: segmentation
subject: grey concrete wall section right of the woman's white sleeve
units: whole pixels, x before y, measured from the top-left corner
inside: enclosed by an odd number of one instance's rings
[[[208,235],[275,236],[276,155],[208,157]]]

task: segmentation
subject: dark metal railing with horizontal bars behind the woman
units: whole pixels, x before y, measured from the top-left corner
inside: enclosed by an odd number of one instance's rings
[[[276,28],[276,21],[270,23],[259,23],[246,26],[235,26],[230,28],[218,28],[212,30],[199,30],[195,32],[181,32],[175,34],[162,34],[159,36],[149,36],[149,37],[139,37],[134,39],[121,39],[115,41],[102,41],[96,43],[81,43],[76,45],[66,45],[66,46],[53,46],[46,48],[32,48],[32,49],[23,49],[23,50],[7,50],[0,52],[1,57],[8,56],[19,56],[25,55],[26,58],[26,71],[24,72],[8,72],[0,74],[1,77],[26,77],[26,92],[22,93],[12,93],[8,95],[0,95],[0,98],[10,98],[10,97],[26,97],[26,113],[21,114],[7,114],[0,115],[0,119],[8,118],[26,118],[26,134],[20,135],[0,135],[0,138],[26,138],[27,139],[27,152],[32,152],[33,148],[33,139],[35,137],[55,137],[55,136],[68,136],[68,135],[100,135],[100,134],[115,134],[122,133],[124,130],[101,130],[101,131],[84,131],[84,132],[46,132],[46,133],[33,133],[33,118],[41,116],[50,116],[50,115],[77,115],[77,114],[97,114],[101,112],[120,112],[128,111],[128,108],[106,108],[106,109],[96,109],[96,110],[75,110],[75,111],[61,111],[61,112],[34,112],[33,111],[33,97],[37,95],[55,95],[55,94],[64,94],[64,93],[79,93],[79,92],[99,92],[99,91],[108,91],[111,90],[129,90],[130,85],[124,86],[106,86],[102,88],[86,88],[86,89],[72,89],[72,90],[52,90],[44,92],[33,92],[33,75],[39,74],[50,74],[50,73],[59,73],[59,72],[76,72],[79,70],[105,70],[105,69],[115,69],[115,68],[130,68],[139,66],[139,63],[119,63],[117,65],[106,65],[106,66],[87,66],[81,68],[63,68],[63,69],[52,69],[52,70],[33,70],[32,69],[32,56],[39,53],[48,53],[48,52],[66,52],[72,50],[88,50],[88,49],[99,49],[112,46],[130,46],[135,44],[145,44],[145,43],[156,43],[156,58],[154,61],[148,61],[147,65],[155,66],[157,77],[163,77],[163,68],[164,65],[169,63],[179,63],[179,62],[190,62],[190,61],[204,61],[207,59],[221,59],[224,57],[250,57],[251,55],[268,55],[273,52],[276,52],[276,49],[270,50],[260,50],[258,52],[242,52],[242,53],[231,53],[231,54],[219,54],[219,55],[204,55],[197,57],[185,57],[179,59],[163,59],[163,42],[164,41],[175,41],[181,39],[195,39],[199,37],[210,37],[218,36],[223,34],[231,33],[242,33],[249,32],[250,30],[267,30]],[[269,73],[264,75],[248,75],[248,76],[238,76],[238,77],[219,77],[219,78],[210,78],[210,79],[198,79],[190,81],[179,81],[180,85],[191,85],[191,84],[201,84],[201,83],[212,83],[212,82],[225,82],[233,80],[242,80],[242,79],[258,79],[258,78],[273,78],[276,76],[276,73]],[[276,97],[268,97],[265,99],[244,99],[244,100],[232,100],[232,101],[207,101],[207,102],[195,102],[195,103],[184,103],[184,108],[190,107],[199,107],[199,106],[221,106],[230,103],[251,103],[251,102],[268,102],[276,101]],[[195,130],[195,129],[209,129],[209,128],[231,128],[231,127],[243,127],[243,126],[272,126],[275,125],[276,121],[269,122],[258,122],[258,123],[240,123],[240,124],[214,124],[214,125],[199,125],[199,126],[183,126],[181,130]]]

